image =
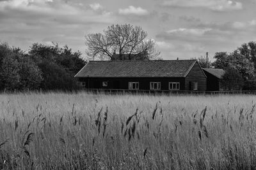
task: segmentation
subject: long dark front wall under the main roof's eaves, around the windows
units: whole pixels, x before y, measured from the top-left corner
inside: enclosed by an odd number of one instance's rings
[[[86,83],[86,89],[129,89],[129,82],[139,82],[139,90],[150,90],[150,82],[161,82],[161,90],[169,90],[169,82],[180,82],[185,90],[185,78],[79,78]],[[108,81],[108,87],[102,82]]]

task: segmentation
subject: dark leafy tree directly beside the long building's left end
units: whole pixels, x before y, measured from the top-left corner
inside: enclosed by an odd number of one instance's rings
[[[29,50],[29,55],[36,61],[42,71],[41,87],[45,90],[76,89],[74,75],[86,64],[81,58],[81,52],[72,52],[68,46],[42,45],[35,43]]]

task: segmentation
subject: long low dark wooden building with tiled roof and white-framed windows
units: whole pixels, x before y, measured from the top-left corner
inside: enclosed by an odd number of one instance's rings
[[[84,89],[205,91],[207,85],[196,60],[90,61],[75,77]]]

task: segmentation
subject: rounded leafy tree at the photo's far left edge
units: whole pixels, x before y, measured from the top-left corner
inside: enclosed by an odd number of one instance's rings
[[[42,81],[41,71],[20,48],[10,48],[6,43],[0,45],[2,89],[37,89]]]

